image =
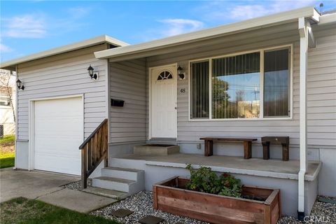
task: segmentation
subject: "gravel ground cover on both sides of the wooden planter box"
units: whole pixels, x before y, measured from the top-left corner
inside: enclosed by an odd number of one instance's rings
[[[111,215],[111,211],[117,209],[130,209],[134,211],[130,216],[125,218],[116,218]],[[188,223],[188,224],[206,224],[202,221],[197,221],[192,218],[186,218],[181,216],[175,216],[164,211],[157,211],[153,209],[153,195],[150,191],[141,191],[131,197],[127,197],[125,200],[116,202],[103,209],[92,211],[95,216],[104,216],[105,218],[111,218],[119,221],[120,223],[138,224],[138,220],[144,218],[146,215],[158,216],[164,218],[165,222],[162,224],[174,224],[174,223]],[[311,211],[311,215],[307,218],[307,222],[297,221],[296,218],[290,216],[283,216],[279,219],[277,224],[332,224],[336,223],[336,204],[330,204],[325,202],[316,201],[314,208]]]

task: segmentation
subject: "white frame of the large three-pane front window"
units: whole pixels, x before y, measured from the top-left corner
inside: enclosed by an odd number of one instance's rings
[[[268,50],[281,50],[284,48],[290,49],[290,87],[289,87],[289,109],[290,113],[288,117],[274,117],[274,118],[264,118],[264,52]],[[212,59],[216,58],[222,58],[222,57],[232,57],[237,55],[244,55],[252,52],[260,52],[260,113],[259,118],[212,118]],[[191,73],[191,64],[193,62],[204,62],[209,60],[209,118],[191,118],[191,111],[192,111],[192,105],[191,105],[191,79],[192,79],[192,73]],[[279,45],[272,48],[260,48],[256,50],[248,50],[248,51],[241,51],[241,52],[235,52],[228,55],[220,55],[216,57],[204,57],[200,59],[192,59],[188,61],[188,120],[189,121],[232,121],[232,120],[293,120],[293,43],[287,44],[287,45]]]

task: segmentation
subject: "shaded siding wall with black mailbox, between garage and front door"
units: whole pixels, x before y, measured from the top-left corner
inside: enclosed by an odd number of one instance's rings
[[[111,107],[111,143],[146,141],[146,61],[110,63],[110,98],[123,99]]]

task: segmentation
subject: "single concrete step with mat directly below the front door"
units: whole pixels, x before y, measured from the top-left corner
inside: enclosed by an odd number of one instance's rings
[[[133,153],[136,155],[169,155],[180,152],[180,146],[163,144],[146,144],[134,146]]]

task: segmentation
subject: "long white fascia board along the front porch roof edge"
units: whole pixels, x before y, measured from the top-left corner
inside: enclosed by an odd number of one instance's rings
[[[276,13],[273,15],[266,15],[260,18],[254,18],[251,20],[244,20],[241,22],[235,22],[229,25],[223,25],[221,27],[214,27],[210,29],[203,29],[201,31],[194,31],[188,34],[181,34],[177,36],[162,38],[155,41],[149,41],[146,43],[139,43],[135,45],[128,45],[121,48],[113,48],[109,50],[102,50],[94,52],[95,57],[98,59],[115,58],[125,55],[132,55],[150,50],[158,50],[162,48],[168,48],[175,45],[181,45],[183,43],[192,43],[195,41],[202,41],[217,36],[225,36],[228,34],[235,34],[241,31],[248,31],[251,29],[258,29],[261,27],[268,27],[272,25],[279,25],[287,22],[296,21],[297,18],[311,18],[311,20],[317,20],[317,11],[314,6],[307,6],[295,10],[290,10],[283,13]],[[318,13],[317,13],[318,14]],[[118,58],[116,58],[118,61]]]

